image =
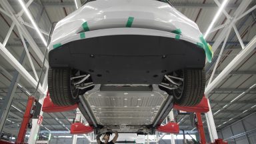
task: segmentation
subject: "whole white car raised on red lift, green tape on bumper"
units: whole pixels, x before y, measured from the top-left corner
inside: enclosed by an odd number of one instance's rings
[[[49,45],[49,93],[99,131],[154,133],[173,107],[197,105],[211,49],[170,3],[94,0],[59,21]]]

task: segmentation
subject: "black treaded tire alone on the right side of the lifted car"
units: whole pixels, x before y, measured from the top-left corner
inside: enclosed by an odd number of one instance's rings
[[[177,93],[177,89],[172,91],[175,103],[181,106],[199,104],[205,91],[205,70],[184,69],[183,79],[182,93]]]

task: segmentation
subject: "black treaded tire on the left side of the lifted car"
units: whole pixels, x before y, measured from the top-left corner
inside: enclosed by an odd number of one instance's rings
[[[48,89],[55,105],[70,106],[79,101],[79,90],[71,86],[71,69],[49,68]]]

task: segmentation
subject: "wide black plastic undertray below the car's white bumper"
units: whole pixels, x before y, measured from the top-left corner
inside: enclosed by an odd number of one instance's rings
[[[177,69],[202,69],[205,51],[188,41],[153,35],[106,35],[49,52],[50,67],[89,73],[95,84],[159,84]]]

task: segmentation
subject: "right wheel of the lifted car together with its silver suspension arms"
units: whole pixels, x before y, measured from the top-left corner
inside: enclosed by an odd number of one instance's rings
[[[171,79],[171,80],[170,80]],[[169,95],[173,95],[175,103],[181,106],[195,106],[200,103],[205,91],[204,69],[183,69],[165,75],[168,81]]]

